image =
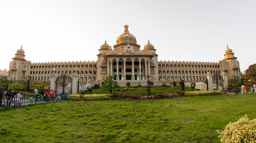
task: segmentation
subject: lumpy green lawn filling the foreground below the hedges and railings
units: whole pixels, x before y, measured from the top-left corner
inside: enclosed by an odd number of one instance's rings
[[[229,121],[256,118],[255,101],[250,93],[1,108],[0,142],[216,143]]]

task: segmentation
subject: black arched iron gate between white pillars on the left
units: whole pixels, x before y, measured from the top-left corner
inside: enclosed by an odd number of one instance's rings
[[[59,76],[56,79],[55,92],[58,98],[66,99],[69,94],[72,94],[72,78],[66,74]]]

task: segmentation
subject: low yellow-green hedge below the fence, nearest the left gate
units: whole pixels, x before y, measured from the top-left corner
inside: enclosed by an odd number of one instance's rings
[[[106,100],[111,99],[112,97],[111,94],[71,94],[68,96],[68,100]]]

